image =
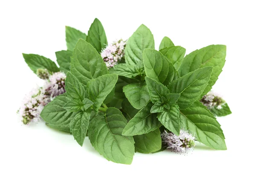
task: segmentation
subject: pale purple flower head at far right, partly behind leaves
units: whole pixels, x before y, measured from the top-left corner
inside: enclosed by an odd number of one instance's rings
[[[203,103],[204,106],[206,106],[209,110],[212,108],[221,109],[222,105],[226,103],[219,94],[212,91],[209,91],[205,96],[203,96],[200,102]]]

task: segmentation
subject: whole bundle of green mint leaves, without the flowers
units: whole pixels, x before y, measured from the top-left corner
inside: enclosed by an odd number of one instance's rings
[[[131,164],[136,151],[163,151],[163,131],[179,136],[184,129],[210,148],[227,149],[215,117],[231,113],[227,103],[202,104],[222,71],[226,46],[210,45],[185,56],[186,49],[164,37],[157,51],[151,31],[141,25],[126,42],[122,59],[107,67],[101,52],[108,42],[98,19],[88,35],[66,27],[66,41],[67,50],[56,52],[59,67],[43,56],[23,54],[34,73],[67,74],[65,93],[41,112],[50,128],[70,132],[81,146],[88,136],[107,160],[123,164]]]

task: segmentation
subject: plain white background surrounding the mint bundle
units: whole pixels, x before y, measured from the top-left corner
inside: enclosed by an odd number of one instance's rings
[[[16,111],[42,81],[22,57],[55,60],[66,49],[65,26],[86,32],[97,17],[108,41],[128,38],[140,24],[186,53],[227,45],[226,64],[214,90],[233,114],[218,118],[227,151],[198,145],[188,156],[171,151],[136,153],[131,165],[108,162],[90,145],[44,123],[22,126]],[[0,191],[254,191],[256,30],[253,1],[27,1],[0,3]]]

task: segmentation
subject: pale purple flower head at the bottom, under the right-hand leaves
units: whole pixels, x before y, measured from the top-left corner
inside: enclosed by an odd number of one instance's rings
[[[163,144],[175,153],[188,153],[194,150],[195,136],[185,129],[180,129],[180,135],[177,136],[172,132],[164,131],[161,134]]]

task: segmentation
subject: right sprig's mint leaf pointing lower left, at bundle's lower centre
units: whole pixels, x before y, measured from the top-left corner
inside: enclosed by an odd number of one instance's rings
[[[160,128],[161,123],[157,119],[157,114],[150,113],[152,106],[149,102],[142,108],[125,126],[122,135],[142,135]]]

